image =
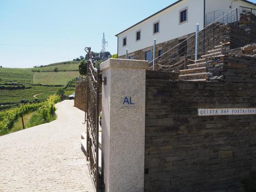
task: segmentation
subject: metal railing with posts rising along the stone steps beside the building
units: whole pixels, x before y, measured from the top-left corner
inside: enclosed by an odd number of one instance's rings
[[[187,69],[187,65],[196,63],[197,58],[200,58],[200,56],[210,54],[210,50],[214,50],[217,48],[216,46],[218,46],[218,50],[221,52],[221,43],[223,41],[222,26],[238,22],[241,14],[246,9],[253,11],[253,13],[256,11],[255,9],[245,7],[237,7],[231,10],[205,26],[199,32],[190,34],[188,38],[183,39],[175,47],[167,50],[161,56],[153,59],[149,63],[150,67],[148,69],[180,71],[181,69]],[[196,36],[198,37],[197,47]]]

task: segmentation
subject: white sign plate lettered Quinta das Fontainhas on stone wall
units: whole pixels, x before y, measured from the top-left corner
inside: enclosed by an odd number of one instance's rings
[[[256,108],[198,109],[199,116],[256,115]]]

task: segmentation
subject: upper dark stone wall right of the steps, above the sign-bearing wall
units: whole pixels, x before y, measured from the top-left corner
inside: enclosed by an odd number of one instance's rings
[[[220,82],[256,82],[256,44],[230,50],[206,62],[206,79]]]

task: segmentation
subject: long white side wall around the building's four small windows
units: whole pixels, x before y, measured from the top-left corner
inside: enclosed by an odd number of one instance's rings
[[[188,22],[179,25],[179,11],[185,7],[188,7]],[[203,15],[204,0],[184,0],[120,34],[118,36],[118,56],[125,55],[126,49],[128,49],[128,53],[132,53],[153,46],[154,39],[157,39],[157,44],[159,44],[193,33],[197,23],[202,29],[204,25]],[[153,23],[158,20],[160,21],[160,33],[153,35]],[[141,30],[141,40],[136,42],[136,31],[138,30]],[[127,45],[123,47],[123,37],[125,36],[127,37]]]

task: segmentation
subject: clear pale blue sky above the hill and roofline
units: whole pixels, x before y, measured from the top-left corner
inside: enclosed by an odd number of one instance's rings
[[[115,35],[175,0],[0,0],[0,66],[28,68],[84,56],[85,47],[117,53]]]

